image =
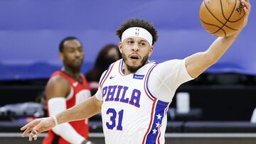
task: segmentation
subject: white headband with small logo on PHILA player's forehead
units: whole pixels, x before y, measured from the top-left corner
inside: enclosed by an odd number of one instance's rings
[[[150,45],[153,43],[152,35],[149,33],[149,31],[146,31],[144,28],[139,27],[132,27],[128,28],[127,30],[122,33],[122,40],[124,41],[126,38],[129,38],[131,36],[136,36],[139,38],[144,38],[146,41],[149,42]]]

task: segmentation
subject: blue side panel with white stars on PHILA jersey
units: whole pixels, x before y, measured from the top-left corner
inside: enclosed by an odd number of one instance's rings
[[[156,138],[159,135],[160,126],[164,118],[165,109],[169,106],[169,103],[158,100],[156,103],[156,109],[154,113],[154,121],[151,124],[151,130],[146,136],[146,144],[154,144],[157,142]],[[164,134],[164,133],[162,133]]]

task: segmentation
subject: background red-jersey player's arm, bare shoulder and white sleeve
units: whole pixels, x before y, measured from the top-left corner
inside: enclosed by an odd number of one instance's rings
[[[55,116],[57,113],[67,109],[65,97],[70,93],[70,88],[70,82],[65,77],[56,75],[50,78],[46,85],[46,99],[50,116]],[[85,141],[85,138],[75,131],[75,128],[70,123],[55,126],[53,132],[69,143],[80,144]]]

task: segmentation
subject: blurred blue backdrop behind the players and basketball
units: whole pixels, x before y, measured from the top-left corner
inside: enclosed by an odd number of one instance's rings
[[[159,31],[151,60],[182,59],[215,40],[199,21],[201,0],[1,0],[0,79],[46,79],[61,67],[58,44],[68,35],[85,49],[82,72],[97,52],[118,43],[116,29],[128,18],[145,18]],[[256,74],[255,1],[247,27],[232,48],[207,72]]]

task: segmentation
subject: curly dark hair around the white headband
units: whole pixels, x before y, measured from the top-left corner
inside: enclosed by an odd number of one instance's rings
[[[144,19],[132,18],[132,19],[129,19],[128,21],[126,21],[125,23],[122,23],[122,25],[117,29],[116,35],[121,40],[122,33],[124,33],[124,31],[127,30],[128,28],[132,28],[132,27],[140,27],[140,28],[144,28],[147,31],[149,31],[149,33],[151,33],[151,35],[153,37],[152,45],[154,45],[154,43],[156,42],[156,40],[158,38],[156,28],[154,28],[152,23],[149,23],[149,21],[146,21]]]

